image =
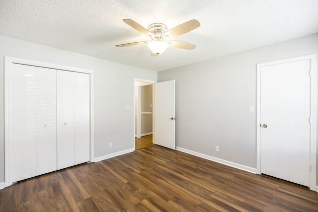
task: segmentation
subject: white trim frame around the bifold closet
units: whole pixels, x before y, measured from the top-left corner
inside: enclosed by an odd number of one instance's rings
[[[80,73],[87,73],[89,74],[89,110],[90,110],[90,117],[89,117],[89,133],[90,133],[90,150],[89,150],[89,162],[93,162],[94,160],[94,102],[93,102],[93,71],[92,70],[86,70],[86,69],[80,69],[75,67],[68,67],[58,64],[50,64],[50,63],[44,63],[39,61],[32,61],[32,60],[26,60],[21,58],[14,58],[14,57],[7,57],[4,56],[4,186],[8,187],[12,185],[11,180],[11,167],[12,167],[12,161],[11,161],[11,155],[12,155],[12,147],[9,142],[9,134],[8,134],[8,111],[10,110],[8,108],[8,72],[11,71],[11,64],[21,64],[21,65],[27,65],[27,66],[35,66],[35,67],[43,67],[43,68],[49,68],[49,69],[57,69],[62,71],[74,71],[74,72],[80,72]]]

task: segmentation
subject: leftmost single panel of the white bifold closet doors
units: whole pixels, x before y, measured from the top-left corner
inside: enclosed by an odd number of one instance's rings
[[[8,129],[12,182],[36,176],[36,68],[12,64],[8,72]]]

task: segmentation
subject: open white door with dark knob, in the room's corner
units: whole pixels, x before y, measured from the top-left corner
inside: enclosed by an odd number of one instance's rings
[[[174,80],[155,83],[154,143],[175,149]]]

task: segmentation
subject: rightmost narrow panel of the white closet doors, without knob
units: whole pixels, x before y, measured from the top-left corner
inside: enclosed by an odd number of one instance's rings
[[[75,164],[89,161],[89,74],[74,73]]]

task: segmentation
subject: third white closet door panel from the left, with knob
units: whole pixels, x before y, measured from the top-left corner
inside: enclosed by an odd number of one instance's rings
[[[57,167],[75,164],[74,72],[57,71]]]

